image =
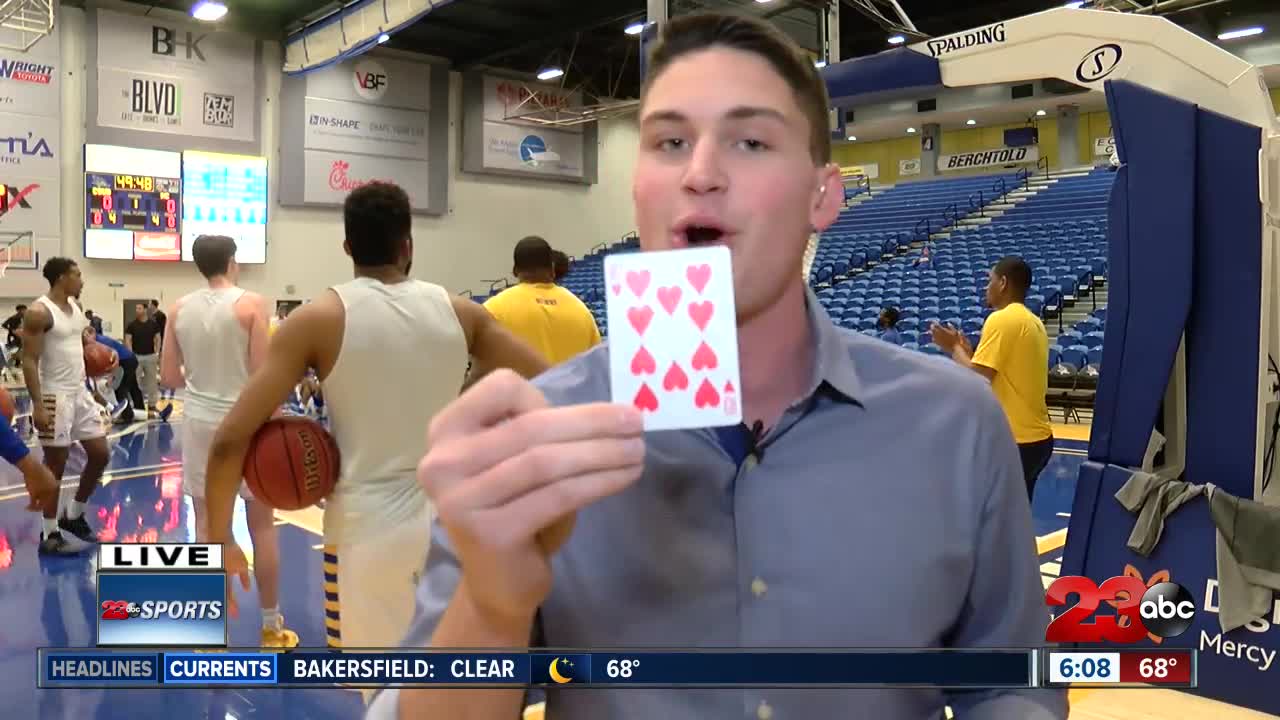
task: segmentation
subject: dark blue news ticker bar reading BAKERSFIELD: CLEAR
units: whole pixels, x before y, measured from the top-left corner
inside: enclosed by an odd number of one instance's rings
[[[332,651],[41,648],[37,687],[1196,687],[1196,651]]]

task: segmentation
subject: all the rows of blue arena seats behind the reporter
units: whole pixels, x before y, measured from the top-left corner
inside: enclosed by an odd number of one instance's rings
[[[989,311],[983,305],[987,273],[1000,258],[1020,255],[1034,275],[1027,305],[1046,319],[1050,336],[1059,337],[1050,352],[1050,369],[1060,377],[1055,387],[1061,387],[1068,375],[1071,388],[1080,386],[1076,375],[1088,384],[1089,373],[1096,386],[1105,309],[1060,333],[1055,333],[1061,328],[1051,320],[1106,278],[1106,204],[1114,178],[1106,170],[1057,178],[989,224],[932,242],[929,234],[957,217],[1004,200],[1007,192],[1023,187],[1023,181],[1009,174],[982,176],[876,191],[841,213],[822,234],[810,284],[837,324],[877,334],[881,310],[896,306],[902,345],[941,354],[929,341],[929,325],[954,324],[977,346]],[[920,242],[927,243],[927,251],[911,247]],[[602,334],[608,334],[604,256],[636,250],[639,240],[634,234],[600,245],[573,259],[562,281],[591,309]],[[503,287],[495,283],[488,295],[474,299],[483,302]]]

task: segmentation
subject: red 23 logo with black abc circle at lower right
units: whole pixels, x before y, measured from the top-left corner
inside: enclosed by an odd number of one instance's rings
[[[1069,596],[1079,596],[1069,605]],[[1187,632],[1196,619],[1196,601],[1178,583],[1147,587],[1132,575],[1111,578],[1097,585],[1080,575],[1053,580],[1044,591],[1044,602],[1068,606],[1044,630],[1044,641],[1055,643],[1135,643],[1148,634],[1174,638]],[[1115,615],[1093,615],[1101,602],[1115,606]]]

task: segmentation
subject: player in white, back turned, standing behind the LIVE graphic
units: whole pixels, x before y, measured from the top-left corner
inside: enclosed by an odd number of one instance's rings
[[[182,423],[182,484],[196,509],[196,542],[209,542],[205,469],[218,424],[230,411],[250,374],[266,357],[266,299],[236,287],[239,264],[236,241],[202,234],[191,247],[207,287],[180,297],[169,310],[160,382],[186,387]],[[253,577],[262,606],[262,647],[294,647],[298,635],[280,615],[280,539],[275,514],[253,500],[244,483],[241,497],[253,542]]]

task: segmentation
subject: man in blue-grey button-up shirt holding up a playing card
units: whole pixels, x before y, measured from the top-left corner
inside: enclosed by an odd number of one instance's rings
[[[1029,647],[1043,602],[986,382],[836,328],[801,275],[842,204],[826,88],[771,26],[671,20],[640,105],[645,251],[722,243],[744,425],[645,434],[608,348],[494,373],[429,428],[433,547],[408,647]],[[922,451],[924,448],[924,451]],[[369,717],[513,720],[515,691],[389,689]],[[1061,691],[547,693],[552,720],[1066,717]]]

